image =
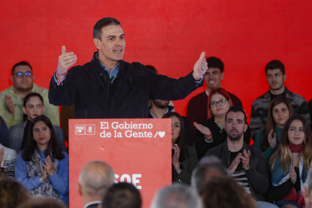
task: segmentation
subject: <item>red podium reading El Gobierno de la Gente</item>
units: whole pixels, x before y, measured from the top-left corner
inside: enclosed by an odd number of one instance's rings
[[[171,184],[171,119],[70,119],[70,208],[82,207],[76,184],[92,160],[108,163],[116,183],[136,186],[148,208],[158,189]]]

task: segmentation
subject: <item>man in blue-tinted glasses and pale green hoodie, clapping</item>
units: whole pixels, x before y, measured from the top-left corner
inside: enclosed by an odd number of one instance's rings
[[[59,109],[49,103],[48,90],[38,87],[33,80],[32,67],[28,62],[18,62],[12,67],[13,86],[0,92],[0,115],[8,128],[23,123],[23,99],[30,92],[37,92],[43,97],[43,115],[46,115],[53,125],[60,125]]]

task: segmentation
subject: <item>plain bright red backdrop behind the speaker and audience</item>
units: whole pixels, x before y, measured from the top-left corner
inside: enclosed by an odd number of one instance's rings
[[[124,60],[154,65],[169,77],[186,75],[200,52],[225,64],[222,86],[236,94],[250,114],[252,101],[268,90],[264,67],[280,59],[286,86],[312,98],[312,1],[6,1],[0,7],[0,90],[9,87],[12,66],[27,60],[35,83],[48,87],[61,45],[82,65],[95,51],[92,29],[115,17],[124,29]],[[185,115],[191,97],[174,102]]]

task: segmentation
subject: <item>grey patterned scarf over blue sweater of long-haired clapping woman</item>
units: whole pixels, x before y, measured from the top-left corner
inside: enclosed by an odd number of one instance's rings
[[[52,155],[52,154],[51,154]],[[51,160],[54,166],[54,172],[58,171],[58,160],[51,156]],[[28,177],[41,176],[43,174],[43,166],[41,162],[40,152],[36,149],[32,155],[32,160],[26,163],[26,169]],[[49,196],[49,198],[59,199],[58,193],[52,188],[49,178],[47,178],[43,184],[37,188],[29,191],[32,195],[41,194],[43,196]]]

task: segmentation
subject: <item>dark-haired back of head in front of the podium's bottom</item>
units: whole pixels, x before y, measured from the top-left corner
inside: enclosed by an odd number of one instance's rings
[[[102,208],[141,208],[140,192],[131,183],[116,183],[105,193]]]

